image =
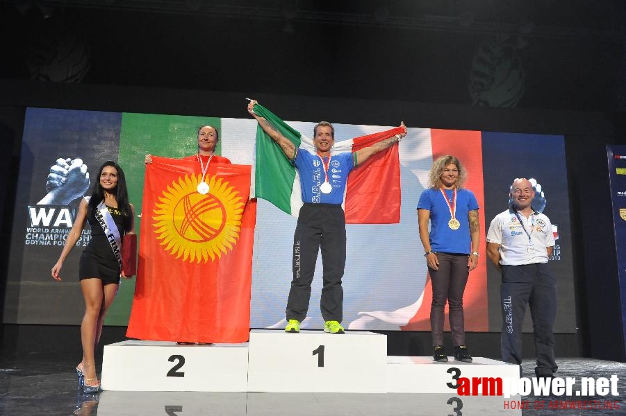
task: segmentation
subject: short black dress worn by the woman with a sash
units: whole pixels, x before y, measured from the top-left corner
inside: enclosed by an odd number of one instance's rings
[[[120,231],[124,235],[124,217],[117,208],[107,207]],[[94,210],[89,208],[87,222],[91,226],[91,240],[81,255],[79,279],[101,279],[103,284],[120,284],[120,266],[108,243]]]

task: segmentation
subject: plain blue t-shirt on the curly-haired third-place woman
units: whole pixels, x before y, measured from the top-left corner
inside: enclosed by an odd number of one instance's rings
[[[444,189],[448,201],[452,200],[453,189]],[[452,206],[452,202],[450,202]],[[451,229],[447,223],[450,221],[450,209],[443,199],[439,189],[425,189],[420,195],[418,209],[430,211],[430,246],[434,252],[470,254],[472,239],[470,237],[470,211],[478,209],[478,202],[474,193],[468,189],[456,191],[456,216],[461,223],[459,229]]]

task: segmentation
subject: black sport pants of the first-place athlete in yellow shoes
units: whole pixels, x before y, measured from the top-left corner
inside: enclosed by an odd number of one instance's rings
[[[322,248],[324,286],[320,308],[324,321],[343,319],[345,214],[341,205],[304,204],[293,236],[293,281],[287,300],[287,319],[302,322],[311,298],[315,261]]]

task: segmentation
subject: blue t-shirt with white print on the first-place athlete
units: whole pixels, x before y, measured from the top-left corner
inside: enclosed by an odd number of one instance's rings
[[[324,157],[324,163],[327,162],[328,157]],[[324,175],[324,165],[318,155],[311,155],[304,149],[298,149],[293,164],[300,173],[302,202],[336,205],[343,203],[348,173],[354,168],[352,153],[331,154],[331,162],[328,166],[328,182],[333,190],[330,193],[320,191],[320,186],[326,180],[326,175]]]

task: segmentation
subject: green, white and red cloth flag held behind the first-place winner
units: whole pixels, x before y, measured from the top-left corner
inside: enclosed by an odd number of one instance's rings
[[[254,113],[265,117],[274,128],[289,139],[299,152],[315,153],[313,141],[294,130],[262,105]],[[356,152],[404,132],[398,127],[355,139],[336,141],[332,153]],[[256,130],[255,193],[272,202],[287,214],[298,216],[302,207],[302,191],[297,169],[279,146],[259,125]],[[349,224],[394,224],[400,222],[400,159],[398,146],[370,157],[348,176],[343,207]]]

